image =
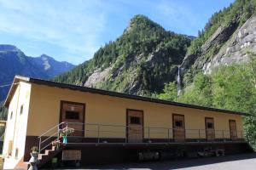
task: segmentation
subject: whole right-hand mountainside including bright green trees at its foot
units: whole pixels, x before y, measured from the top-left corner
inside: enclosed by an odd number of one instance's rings
[[[255,0],[236,0],[213,14],[191,42],[177,81],[156,97],[248,113],[244,136],[256,150],[255,12]]]

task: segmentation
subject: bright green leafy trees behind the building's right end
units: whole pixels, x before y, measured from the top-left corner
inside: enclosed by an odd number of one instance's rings
[[[241,111],[247,141],[256,149],[256,59],[244,65],[219,67],[211,75],[198,73],[176,101]]]

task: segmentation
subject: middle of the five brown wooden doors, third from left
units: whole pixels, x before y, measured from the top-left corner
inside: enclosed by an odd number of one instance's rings
[[[183,115],[172,115],[173,139],[177,142],[185,141],[185,122]]]

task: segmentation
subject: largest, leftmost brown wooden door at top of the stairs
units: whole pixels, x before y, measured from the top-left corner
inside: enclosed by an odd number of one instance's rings
[[[73,136],[84,137],[84,104],[73,102],[61,102],[61,120],[67,122],[67,127],[74,128]],[[66,127],[62,124],[61,128]]]

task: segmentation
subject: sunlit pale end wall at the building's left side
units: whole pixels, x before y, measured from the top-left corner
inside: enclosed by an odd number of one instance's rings
[[[16,163],[24,156],[30,90],[30,83],[20,82],[17,85],[15,94],[9,104],[9,113],[3,143],[3,155],[8,156],[9,141],[13,141],[13,146],[11,156],[4,160],[4,169],[14,168]],[[23,105],[23,112],[20,115],[21,105]],[[10,117],[11,112],[13,112],[12,118]],[[17,157],[15,156],[16,148],[18,149]]]

